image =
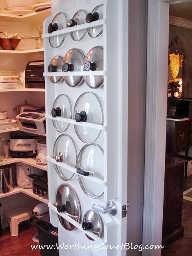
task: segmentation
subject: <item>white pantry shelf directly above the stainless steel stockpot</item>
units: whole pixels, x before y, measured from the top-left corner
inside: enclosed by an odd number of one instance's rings
[[[38,162],[36,162],[35,158],[8,158],[7,161],[0,162],[0,166],[6,165],[6,164],[14,164],[18,162],[23,164],[28,164],[30,166],[47,171],[47,164],[39,164]]]

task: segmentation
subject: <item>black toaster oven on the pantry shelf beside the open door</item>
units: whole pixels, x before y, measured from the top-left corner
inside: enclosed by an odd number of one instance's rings
[[[44,60],[29,61],[25,69],[26,88],[45,88]]]

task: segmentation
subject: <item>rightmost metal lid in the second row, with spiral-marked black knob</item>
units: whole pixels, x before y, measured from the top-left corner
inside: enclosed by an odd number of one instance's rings
[[[85,56],[84,71],[103,70],[103,47],[93,47]],[[84,76],[86,84],[90,88],[98,88],[103,85],[103,76]]]

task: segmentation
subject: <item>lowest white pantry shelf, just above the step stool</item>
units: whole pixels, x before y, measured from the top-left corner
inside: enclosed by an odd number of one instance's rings
[[[26,195],[28,195],[32,198],[35,198],[38,201],[43,202],[45,204],[48,204],[48,202],[49,202],[48,199],[34,194],[32,188],[18,188],[18,187],[16,187],[11,192],[0,194],[0,198],[4,198],[4,197],[7,197],[7,196],[12,196],[12,195],[18,194],[18,193],[26,194]]]

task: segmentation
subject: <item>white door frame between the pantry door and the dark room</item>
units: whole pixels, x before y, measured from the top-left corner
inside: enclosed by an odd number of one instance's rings
[[[148,0],[143,245],[162,243],[169,3],[178,2],[184,0]],[[161,250],[142,255],[160,256]]]

